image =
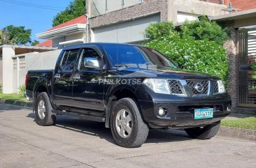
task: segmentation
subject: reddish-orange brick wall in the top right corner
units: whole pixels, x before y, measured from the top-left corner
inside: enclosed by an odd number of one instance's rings
[[[249,10],[256,8],[256,0],[230,0],[233,8],[239,8],[241,10]]]

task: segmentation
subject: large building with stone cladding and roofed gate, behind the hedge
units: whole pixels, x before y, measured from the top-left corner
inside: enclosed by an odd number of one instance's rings
[[[256,114],[256,80],[250,63],[256,60],[255,0],[88,0],[91,42],[141,44],[151,23],[185,20],[207,15],[226,24],[232,38],[225,43],[229,58],[227,90],[233,110]]]

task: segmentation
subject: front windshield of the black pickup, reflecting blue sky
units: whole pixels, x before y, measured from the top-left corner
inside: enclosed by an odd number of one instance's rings
[[[171,68],[178,68],[172,61],[148,47],[141,47],[135,45],[104,45],[106,53],[113,66],[127,66],[127,65],[154,65],[167,66]]]

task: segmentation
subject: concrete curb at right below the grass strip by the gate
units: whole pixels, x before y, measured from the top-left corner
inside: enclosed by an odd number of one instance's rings
[[[256,142],[256,130],[221,126],[218,135]]]

